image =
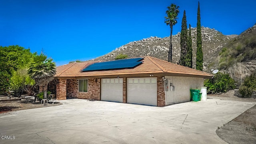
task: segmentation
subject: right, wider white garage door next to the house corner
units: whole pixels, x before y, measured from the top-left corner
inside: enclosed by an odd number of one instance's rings
[[[157,106],[156,78],[128,78],[127,102]]]

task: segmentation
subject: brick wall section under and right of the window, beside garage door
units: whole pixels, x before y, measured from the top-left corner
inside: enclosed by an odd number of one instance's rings
[[[100,100],[100,78],[88,78],[88,92],[78,92],[77,98]]]

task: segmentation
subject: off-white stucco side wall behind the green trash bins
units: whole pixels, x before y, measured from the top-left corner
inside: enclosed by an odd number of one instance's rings
[[[180,76],[165,76],[168,80],[168,91],[165,92],[167,104],[175,104],[190,101],[190,89],[201,89],[204,86],[204,78],[191,78]],[[175,87],[171,91],[170,83]]]

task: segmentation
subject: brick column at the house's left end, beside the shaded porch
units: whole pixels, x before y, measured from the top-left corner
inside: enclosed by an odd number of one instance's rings
[[[67,80],[58,79],[56,86],[56,99],[57,100],[66,100],[67,96]]]

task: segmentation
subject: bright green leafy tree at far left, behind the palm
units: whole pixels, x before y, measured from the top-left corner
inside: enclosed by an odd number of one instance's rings
[[[13,71],[25,68],[34,54],[21,46],[0,46],[0,94],[10,87]]]

